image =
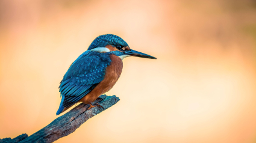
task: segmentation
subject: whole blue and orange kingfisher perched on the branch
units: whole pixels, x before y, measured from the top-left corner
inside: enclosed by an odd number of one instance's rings
[[[113,88],[122,73],[122,60],[128,56],[156,59],[130,49],[125,40],[117,35],[96,37],[63,76],[59,87],[61,102],[56,115],[78,102],[89,104],[88,109],[101,106],[92,103]]]

